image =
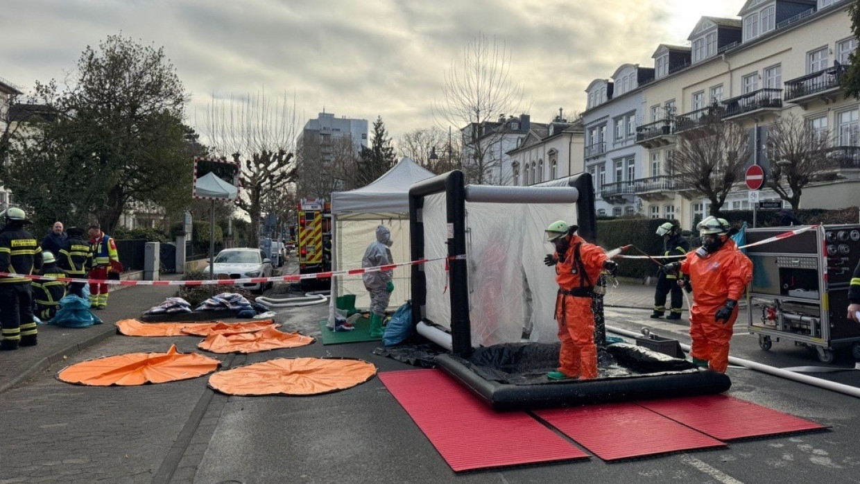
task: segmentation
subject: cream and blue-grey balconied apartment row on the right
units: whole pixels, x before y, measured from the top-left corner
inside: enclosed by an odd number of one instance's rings
[[[658,46],[651,78],[648,70],[625,64],[611,79],[589,85],[585,155],[596,180],[598,209],[619,215],[632,206],[633,212],[678,218],[689,226],[710,207],[673,178],[679,133],[704,119],[738,122],[749,132],[748,164],[766,172],[778,162],[767,156],[769,126],[787,116],[804,119],[832,144],[832,173],[804,187],[802,206],[857,205],[860,109],[839,88],[848,55],[857,48],[848,3],[748,0],[740,18],[702,17],[690,46]],[[635,86],[633,67],[639,69]],[[632,143],[628,116],[635,117]],[[778,199],[771,190],[761,197]],[[723,209],[748,206],[746,188],[739,184]]]

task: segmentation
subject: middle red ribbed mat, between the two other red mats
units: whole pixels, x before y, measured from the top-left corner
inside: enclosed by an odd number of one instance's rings
[[[535,414],[605,461],[726,446],[636,403],[552,408]]]

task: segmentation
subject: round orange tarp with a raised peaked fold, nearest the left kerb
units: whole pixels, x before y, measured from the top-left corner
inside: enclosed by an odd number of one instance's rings
[[[221,363],[197,353],[181,353],[176,345],[166,353],[128,353],[71,365],[57,374],[66,383],[94,385],[142,385],[187,380],[211,373]]]

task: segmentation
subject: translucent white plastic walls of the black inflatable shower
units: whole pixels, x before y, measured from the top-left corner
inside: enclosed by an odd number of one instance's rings
[[[556,220],[575,224],[576,205],[466,203],[466,260],[472,346],[529,339],[556,341],[555,270],[544,265],[553,252],[544,230]],[[425,257],[447,254],[445,193],[424,199]],[[426,317],[451,329],[451,295],[444,264],[425,264]],[[447,288],[447,290],[446,290]]]

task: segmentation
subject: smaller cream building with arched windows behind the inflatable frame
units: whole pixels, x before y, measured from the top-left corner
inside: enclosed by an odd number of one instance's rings
[[[531,130],[509,150],[511,185],[527,186],[563,178],[584,169],[581,119],[568,121],[560,112],[548,125],[533,123]]]

